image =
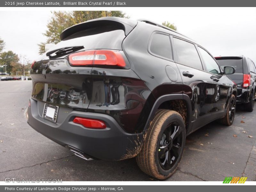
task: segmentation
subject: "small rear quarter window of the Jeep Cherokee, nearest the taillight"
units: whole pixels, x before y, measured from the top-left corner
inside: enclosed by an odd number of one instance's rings
[[[155,56],[172,59],[172,46],[168,35],[155,33],[151,39],[149,50]]]

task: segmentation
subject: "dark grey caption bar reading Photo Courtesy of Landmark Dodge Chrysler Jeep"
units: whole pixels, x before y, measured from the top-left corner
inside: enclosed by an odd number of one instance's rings
[[[225,185],[225,187],[223,186]],[[223,184],[221,185],[215,185],[215,186],[209,186],[209,185],[203,185],[203,186],[196,186],[196,185],[183,185],[183,186],[173,186],[173,185],[154,185],[154,186],[136,186],[136,185],[102,185],[102,186],[93,186],[93,185],[78,185],[78,186],[72,186],[72,185],[60,185],[60,186],[54,186],[54,185],[44,185],[44,186],[38,186],[38,185],[9,185],[9,186],[0,186],[1,192],[134,192],[134,191],[147,191],[147,192],[156,192],[156,191],[207,191],[207,192],[216,192],[216,191],[232,191],[232,192],[238,192],[238,191],[254,191],[255,186],[250,185],[243,185],[243,184]]]

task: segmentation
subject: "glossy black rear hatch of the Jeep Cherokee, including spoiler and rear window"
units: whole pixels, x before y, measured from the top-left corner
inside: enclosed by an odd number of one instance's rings
[[[64,30],[60,43],[44,53],[31,69],[32,98],[86,111],[92,97],[93,67],[130,68],[122,51],[122,42],[136,24],[126,19],[101,18]],[[74,54],[75,57],[70,57]],[[109,55],[123,57],[126,65],[110,63],[112,65],[106,66],[104,60],[108,60]],[[81,57],[84,62],[77,64]]]

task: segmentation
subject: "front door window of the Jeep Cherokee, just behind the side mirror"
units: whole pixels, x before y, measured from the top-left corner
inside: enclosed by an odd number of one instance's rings
[[[198,48],[199,48],[199,52],[201,53],[201,56],[204,60],[206,70],[209,73],[220,74],[220,67],[217,64],[217,62],[212,58],[212,56],[208,52],[206,52],[204,49],[202,49],[201,47],[198,47]]]

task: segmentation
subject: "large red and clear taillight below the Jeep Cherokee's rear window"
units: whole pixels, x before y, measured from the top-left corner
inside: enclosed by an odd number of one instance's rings
[[[92,50],[76,52],[68,56],[71,65],[111,65],[125,67],[123,55],[119,51]]]

